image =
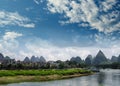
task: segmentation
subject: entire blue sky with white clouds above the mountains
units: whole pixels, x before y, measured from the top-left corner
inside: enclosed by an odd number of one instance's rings
[[[119,0],[0,0],[0,53],[17,60],[120,54]]]

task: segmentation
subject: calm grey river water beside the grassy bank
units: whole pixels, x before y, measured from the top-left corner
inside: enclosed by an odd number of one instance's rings
[[[24,82],[5,86],[120,86],[120,70],[106,69],[90,76],[47,82]]]

